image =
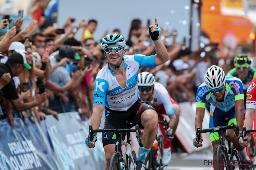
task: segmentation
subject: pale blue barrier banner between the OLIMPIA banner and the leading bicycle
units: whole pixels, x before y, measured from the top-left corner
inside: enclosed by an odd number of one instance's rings
[[[102,154],[102,149],[97,148],[100,147],[100,140],[99,143],[97,140],[98,145],[94,150],[85,145],[85,138],[88,137],[88,124],[81,121],[77,112],[59,114],[58,117],[59,121],[52,115],[48,115],[45,125],[59,169],[103,169],[103,162],[96,159],[101,156],[99,154]],[[101,166],[99,166],[100,164]]]

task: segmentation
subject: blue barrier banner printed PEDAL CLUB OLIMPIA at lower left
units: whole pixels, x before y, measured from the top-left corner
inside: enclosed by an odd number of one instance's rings
[[[0,121],[0,169],[58,169],[39,125],[31,117],[27,125],[20,118],[14,124],[12,129],[8,120]]]

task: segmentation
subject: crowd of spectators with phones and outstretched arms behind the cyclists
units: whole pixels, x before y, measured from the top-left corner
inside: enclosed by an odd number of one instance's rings
[[[15,26],[0,37],[0,118],[8,118],[12,128],[14,117],[23,117],[26,124],[27,116],[33,116],[40,123],[46,115],[58,119],[59,113],[76,111],[82,119],[89,119],[94,81],[107,64],[101,42],[93,35],[97,20],[81,19],[75,26],[75,18],[68,17],[61,27],[56,27],[56,0],[50,3],[48,9],[45,0],[35,0],[29,25],[20,29],[24,19],[17,18]],[[51,11],[50,16],[44,15],[47,10]],[[149,21],[142,25],[140,19],[132,20],[129,36],[125,37],[125,55],[155,54],[149,25]],[[0,30],[4,28],[8,28],[6,19],[0,21]],[[61,32],[63,28],[65,32]],[[79,29],[82,33],[75,39]],[[102,37],[114,33],[122,34],[114,29],[102,33]],[[178,34],[179,31],[162,29],[160,40],[170,60],[155,68],[141,68],[139,72],[153,73],[176,102],[194,102],[205,71],[214,64],[227,73],[233,68],[232,60],[238,52],[211,42],[204,42],[199,50],[192,52],[186,48],[185,39],[176,43]]]

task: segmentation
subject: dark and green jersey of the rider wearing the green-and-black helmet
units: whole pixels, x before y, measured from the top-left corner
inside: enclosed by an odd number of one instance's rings
[[[233,77],[237,77],[239,78],[238,74],[237,74],[237,69],[233,68],[231,69],[227,75],[233,76]],[[246,90],[248,87],[248,84],[253,80],[253,78],[256,77],[256,68],[251,68],[250,71],[248,72],[248,76],[246,78],[246,80],[242,81],[243,83],[243,91],[244,94],[246,94]],[[240,78],[239,78],[240,79]],[[244,102],[246,101],[246,96],[244,95]]]

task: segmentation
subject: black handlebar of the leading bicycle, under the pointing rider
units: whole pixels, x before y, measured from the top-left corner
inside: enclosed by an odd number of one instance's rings
[[[141,142],[140,134],[141,130],[139,125],[135,125],[135,129],[93,129],[93,125],[89,125],[89,143],[93,140],[93,134],[97,132],[112,132],[112,133],[122,133],[122,132],[136,132],[136,138],[138,140],[138,144],[140,147],[143,147],[143,143]]]

